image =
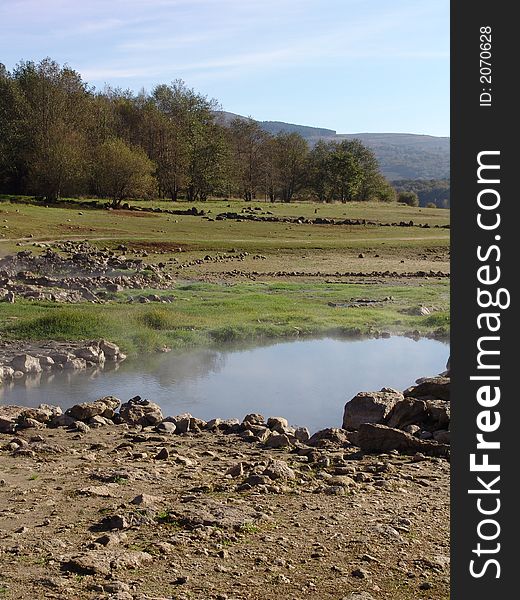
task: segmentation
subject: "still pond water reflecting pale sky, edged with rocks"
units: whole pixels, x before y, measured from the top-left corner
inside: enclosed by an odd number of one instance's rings
[[[199,349],[127,360],[97,373],[44,373],[0,387],[0,403],[67,408],[114,395],[140,395],[164,415],[202,419],[283,416],[311,431],[340,427],[345,402],[359,391],[403,390],[445,368],[449,346],[405,337],[283,341]]]

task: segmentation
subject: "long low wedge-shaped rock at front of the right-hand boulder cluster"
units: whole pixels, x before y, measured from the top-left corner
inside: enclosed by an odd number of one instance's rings
[[[364,452],[423,452],[433,456],[449,455],[449,446],[420,440],[400,429],[386,425],[364,423],[359,428],[358,445]]]

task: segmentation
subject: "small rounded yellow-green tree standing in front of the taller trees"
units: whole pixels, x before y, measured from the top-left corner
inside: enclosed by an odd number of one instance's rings
[[[154,191],[155,164],[145,151],[130,146],[120,138],[104,142],[98,149],[94,166],[96,187],[100,195],[118,208],[125,198],[147,196]]]

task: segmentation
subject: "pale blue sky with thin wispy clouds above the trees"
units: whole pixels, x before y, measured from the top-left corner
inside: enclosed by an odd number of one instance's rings
[[[0,0],[0,62],[103,89],[183,79],[224,110],[449,135],[449,0]]]

